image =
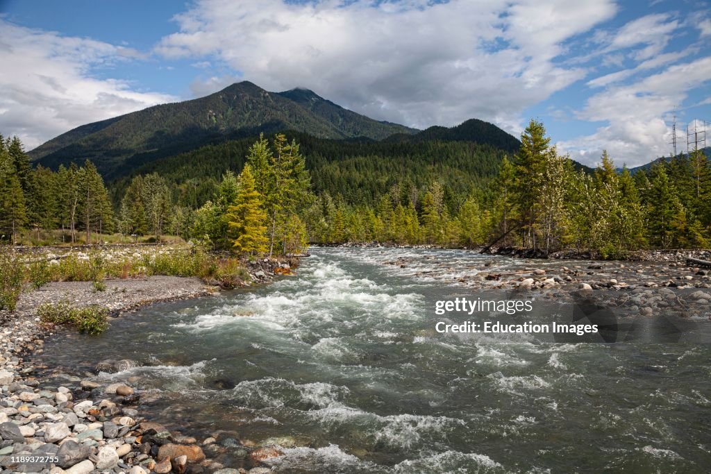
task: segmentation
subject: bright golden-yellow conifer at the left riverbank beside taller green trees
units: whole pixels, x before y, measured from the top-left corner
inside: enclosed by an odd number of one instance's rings
[[[240,173],[240,188],[235,204],[228,208],[232,247],[242,254],[263,254],[267,252],[267,214],[262,208],[262,196],[255,188],[255,178],[250,165]]]

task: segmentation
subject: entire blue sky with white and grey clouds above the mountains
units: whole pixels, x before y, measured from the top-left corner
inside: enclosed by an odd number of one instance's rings
[[[711,4],[0,0],[0,65],[0,133],[27,149],[250,80],[419,129],[535,118],[581,163],[638,166],[674,117],[678,151],[711,120]]]

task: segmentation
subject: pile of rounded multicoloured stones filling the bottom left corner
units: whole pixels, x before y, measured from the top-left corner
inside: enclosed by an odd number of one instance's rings
[[[44,338],[53,335],[28,314],[0,328],[0,468],[2,473],[219,473],[260,474],[272,451],[250,448],[247,468],[224,468],[210,455],[231,438],[198,442],[146,421],[141,393],[127,383],[103,386],[92,377],[54,372],[41,362]],[[131,361],[105,361],[117,371]],[[251,466],[251,468],[249,468]]]

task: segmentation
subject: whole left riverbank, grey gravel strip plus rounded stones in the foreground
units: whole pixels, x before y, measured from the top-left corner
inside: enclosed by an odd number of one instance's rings
[[[247,263],[246,271],[252,283],[264,283],[277,274],[289,274],[289,263],[263,259]],[[43,365],[45,338],[61,337],[65,331],[39,321],[36,309],[43,303],[97,304],[115,318],[146,304],[206,296],[220,289],[217,282],[177,276],[104,282],[103,291],[88,281],[49,283],[23,292],[14,313],[0,314],[0,472],[269,472],[261,464],[279,455],[274,448],[243,446],[220,433],[198,440],[144,419],[141,392],[131,387],[130,378],[101,384],[95,374],[65,373]],[[105,361],[97,373],[117,372],[134,363]],[[232,451],[243,455],[236,464],[225,462],[234,458]]]

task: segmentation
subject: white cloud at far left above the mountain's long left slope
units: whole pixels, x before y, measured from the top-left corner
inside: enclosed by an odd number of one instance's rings
[[[0,132],[20,136],[32,149],[75,126],[175,100],[92,77],[92,68],[136,58],[142,55],[130,48],[0,18]]]

